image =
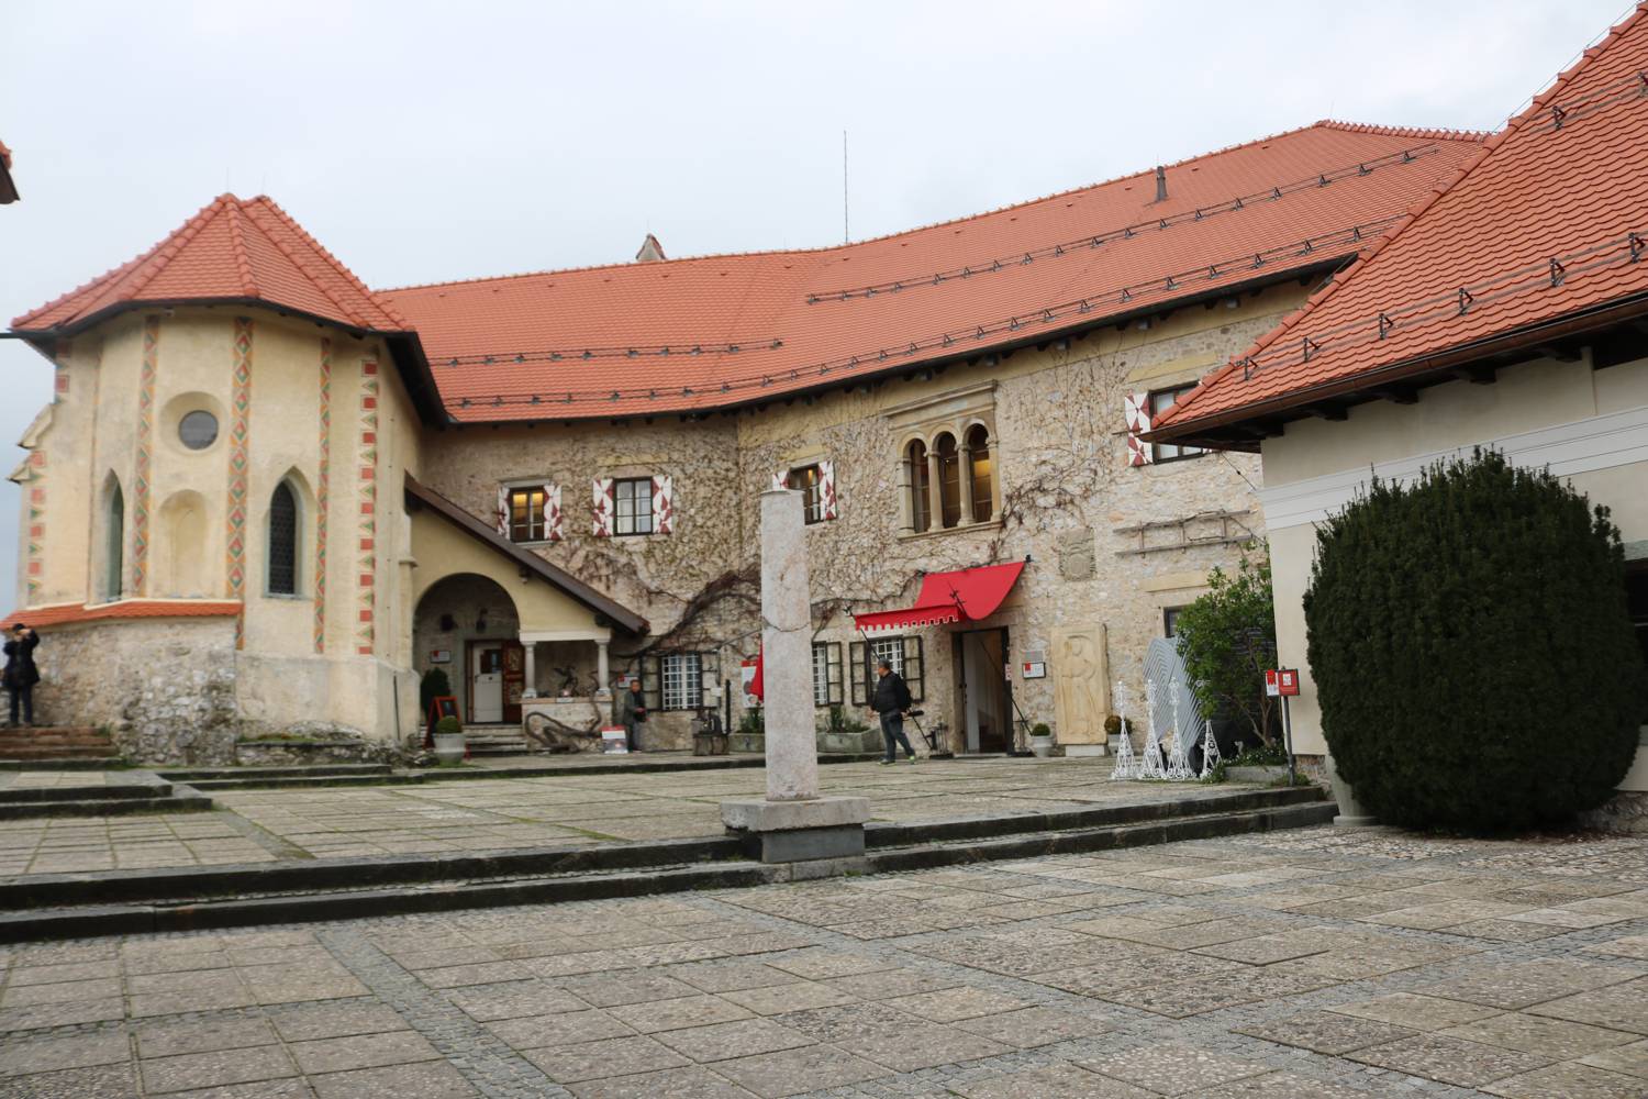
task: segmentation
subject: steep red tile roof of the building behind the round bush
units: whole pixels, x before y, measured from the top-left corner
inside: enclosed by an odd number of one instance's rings
[[[1648,293],[1645,71],[1648,3],[1152,437],[1396,379],[1429,356]]]

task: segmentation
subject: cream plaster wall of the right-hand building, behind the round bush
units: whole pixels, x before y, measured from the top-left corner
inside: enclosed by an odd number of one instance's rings
[[[1376,402],[1351,409],[1345,422],[1289,423],[1284,435],[1264,442],[1266,488],[1309,488],[1312,478],[1491,445],[1523,432],[1641,407],[1648,407],[1648,359],[1604,371],[1594,371],[1589,356],[1577,362],[1539,359],[1500,371],[1493,386],[1449,382],[1422,390],[1412,405]],[[1612,509],[1627,542],[1648,539],[1648,461],[1587,470],[1569,479],[1594,503]],[[1315,526],[1284,527],[1272,517],[1269,540],[1279,659],[1300,669],[1300,694],[1292,702],[1294,748],[1323,755],[1322,709],[1305,662],[1304,593],[1315,559]],[[1623,789],[1648,789],[1643,753]]]

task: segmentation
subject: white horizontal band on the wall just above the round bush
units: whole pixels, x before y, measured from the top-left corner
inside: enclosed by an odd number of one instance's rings
[[[1648,463],[1648,405],[1594,415],[1536,432],[1485,438],[1449,450],[1376,463],[1371,470],[1346,470],[1259,489],[1267,531],[1284,531],[1322,522],[1351,501],[1369,475],[1396,483],[1412,483],[1419,471],[1439,460],[1468,455],[1473,447],[1500,450],[1518,466],[1549,466],[1557,476]]]

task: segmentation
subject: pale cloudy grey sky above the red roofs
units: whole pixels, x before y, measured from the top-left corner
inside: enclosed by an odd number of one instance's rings
[[[1625,0],[7,0],[0,318],[267,193],[372,287],[834,244],[1322,117],[1496,127]],[[0,473],[49,397],[0,341]],[[0,484],[0,613],[16,486]]]

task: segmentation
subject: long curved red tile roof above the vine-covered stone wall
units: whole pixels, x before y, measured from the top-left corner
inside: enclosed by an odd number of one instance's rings
[[[1480,145],[1318,122],[1168,166],[1162,203],[1145,171],[831,249],[379,298],[417,328],[458,420],[704,410],[1317,269],[1355,254]]]

